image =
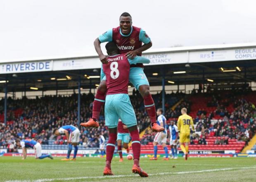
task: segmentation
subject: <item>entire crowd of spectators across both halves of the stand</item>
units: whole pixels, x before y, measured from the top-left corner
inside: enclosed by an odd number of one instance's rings
[[[153,95],[156,108],[162,105],[161,96],[162,93]],[[187,99],[189,96],[183,93],[166,94],[165,116],[167,120],[177,121],[182,107],[186,107],[188,113],[190,112],[192,103]],[[8,148],[9,145],[14,143],[15,138],[33,138],[42,144],[48,144],[49,139],[54,139],[57,145],[66,144],[65,136],[55,138],[52,135],[52,130],[55,127],[59,128],[69,124],[79,127],[77,125],[77,97],[76,94],[73,94],[72,96],[44,96],[36,99],[22,98],[12,100],[12,98],[8,98],[8,124],[7,126],[0,125],[0,148]],[[248,142],[256,132],[255,105],[235,95],[230,96],[226,100],[223,100],[222,97],[220,94],[212,94],[213,99],[209,106],[216,107],[215,113],[206,113],[204,109],[197,112],[198,116],[194,121],[197,124],[196,131],[201,134],[191,138],[191,144],[206,145],[207,135],[222,137],[215,141],[216,145],[228,144],[228,138]],[[175,102],[170,103],[168,100],[176,99],[178,101],[180,98],[183,98],[183,100],[172,110]],[[143,99],[138,91],[133,91],[130,99],[135,110],[138,127],[140,131],[143,131],[151,123],[145,110]],[[91,117],[93,100],[94,96],[92,93],[81,96],[81,122],[87,121]],[[3,100],[0,102],[2,104]],[[235,108],[231,113],[226,109],[230,104]],[[18,115],[15,114],[14,111],[19,109],[21,112]],[[0,108],[0,114],[2,114],[1,110]],[[221,114],[222,112],[223,115]],[[202,118],[202,114],[205,117]],[[214,114],[221,115],[223,121],[218,121],[214,124],[211,120]],[[80,128],[80,145],[98,147],[97,135],[102,134],[105,138],[108,138],[107,128],[104,126],[104,108],[102,108],[99,122],[99,128]],[[145,133],[147,135],[142,139],[142,144],[152,142],[154,139],[150,129],[146,130]]]

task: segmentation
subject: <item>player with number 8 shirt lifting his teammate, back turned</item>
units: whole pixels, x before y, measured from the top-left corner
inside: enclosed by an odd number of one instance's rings
[[[133,168],[132,172],[141,177],[148,177],[147,173],[140,168],[140,136],[137,129],[137,120],[133,106],[128,96],[128,83],[130,64],[149,63],[149,59],[136,56],[134,59],[126,58],[125,54],[119,54],[114,42],[106,44],[107,64],[103,64],[103,71],[106,75],[107,96],[105,103],[105,124],[109,128],[109,140],[106,147],[106,167],[104,175],[113,175],[111,161],[113,158],[115,143],[117,139],[117,125],[119,118],[130,132],[133,147]]]

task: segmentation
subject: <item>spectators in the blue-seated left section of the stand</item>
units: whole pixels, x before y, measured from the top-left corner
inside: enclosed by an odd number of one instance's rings
[[[161,93],[153,95],[156,107],[161,105]],[[55,137],[52,134],[54,128],[72,124],[80,128],[77,118],[77,94],[71,96],[44,96],[36,99],[16,99],[8,98],[7,126],[0,123],[0,148],[8,148],[14,143],[15,138],[32,138],[42,144],[49,144],[49,140],[55,140],[55,144],[66,144],[65,136]],[[166,94],[166,98],[175,98],[176,94]],[[180,97],[180,94],[177,94]],[[150,119],[144,107],[143,99],[138,91],[133,91],[130,96],[137,117],[140,131],[150,125]],[[92,115],[92,93],[81,95],[81,122],[88,121]],[[170,100],[170,99],[169,99]],[[0,101],[3,105],[3,99]],[[166,102],[166,107],[172,105]],[[21,110],[15,115],[15,111]],[[0,114],[3,108],[0,108]],[[169,112],[172,114],[172,112]],[[104,108],[99,118],[99,128],[81,127],[81,138],[79,145],[85,147],[99,147],[97,135],[102,134],[108,138],[107,127],[104,126]]]

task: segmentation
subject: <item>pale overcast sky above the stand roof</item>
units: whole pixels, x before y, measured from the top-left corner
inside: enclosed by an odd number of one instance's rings
[[[154,48],[256,42],[256,0],[0,0],[0,61],[96,55],[129,12]]]

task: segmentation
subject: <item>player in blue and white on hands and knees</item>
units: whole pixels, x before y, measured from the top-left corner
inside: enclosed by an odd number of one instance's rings
[[[17,138],[15,142],[18,147],[22,148],[22,154],[23,154],[22,159],[26,159],[27,157],[27,148],[35,149],[36,159],[45,159],[46,157],[53,159],[51,154],[42,155],[41,144],[39,142],[36,142],[35,140],[31,140],[31,139],[20,140],[19,138]]]

